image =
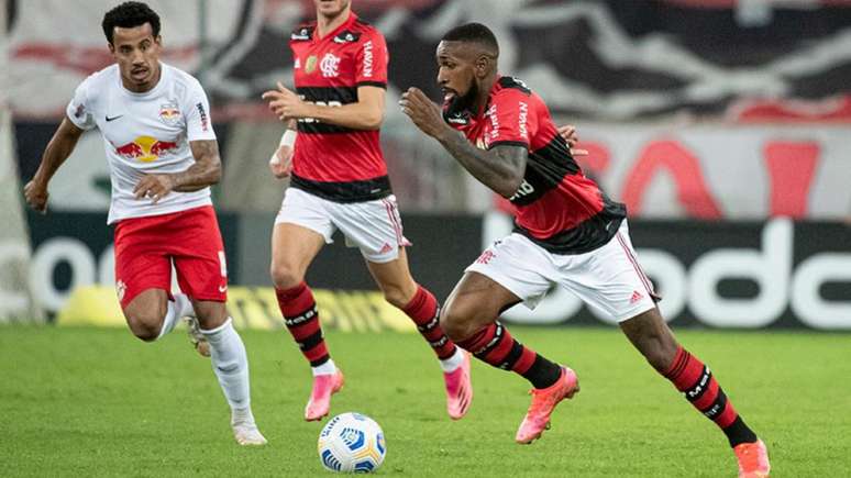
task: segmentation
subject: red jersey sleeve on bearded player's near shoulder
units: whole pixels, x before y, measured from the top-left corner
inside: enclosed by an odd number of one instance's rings
[[[486,136],[487,148],[499,145],[522,146],[527,149],[538,130],[535,115],[530,108],[531,97],[521,90],[506,88],[499,91],[490,105],[490,127]]]

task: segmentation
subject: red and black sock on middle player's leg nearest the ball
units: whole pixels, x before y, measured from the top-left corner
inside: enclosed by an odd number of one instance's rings
[[[301,354],[310,362],[310,366],[317,367],[328,362],[331,356],[322,337],[317,302],[307,284],[301,282],[286,290],[275,289],[275,296],[284,315],[284,324],[296,340]]]

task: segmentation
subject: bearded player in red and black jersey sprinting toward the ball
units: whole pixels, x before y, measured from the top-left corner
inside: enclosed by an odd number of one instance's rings
[[[497,73],[498,55],[486,26],[453,29],[436,51],[444,110],[416,88],[400,100],[421,131],[515,209],[515,232],[466,269],[444,304],[443,330],[482,360],[532,382],[532,403],[516,437],[531,443],[555,405],[579,390],[578,380],[512,338],[497,318],[520,301],[534,307],[553,285],[567,288],[611,314],[648,362],[723,431],[741,476],[767,476],[764,444],[660,314],[636,259],[626,207],[583,175],[541,98]]]

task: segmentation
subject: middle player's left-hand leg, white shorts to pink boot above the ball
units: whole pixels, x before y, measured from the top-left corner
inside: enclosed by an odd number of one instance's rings
[[[329,413],[331,394],[343,387],[343,374],[328,352],[313,292],[305,274],[322,246],[331,242],[334,226],[324,209],[327,201],[290,188],[272,232],[272,281],[284,323],[310,363],[313,387],[305,407],[305,420]]]

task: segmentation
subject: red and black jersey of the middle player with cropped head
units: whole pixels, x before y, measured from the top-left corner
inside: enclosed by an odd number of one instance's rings
[[[387,88],[387,44],[378,30],[352,12],[342,25],[319,37],[316,21],[297,27],[289,46],[296,91],[329,107],[357,101],[357,88]],[[390,181],[378,130],[355,130],[298,120],[291,185],[339,202],[379,199]]]

